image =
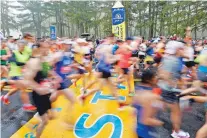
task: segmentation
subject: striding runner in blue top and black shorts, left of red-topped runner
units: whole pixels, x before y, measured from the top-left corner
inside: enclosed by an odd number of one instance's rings
[[[101,90],[103,84],[108,85],[113,96],[116,100],[119,100],[115,84],[111,79],[112,76],[110,71],[112,64],[119,59],[119,56],[112,55],[112,44],[113,37],[109,36],[107,40],[96,49],[95,55],[99,60],[99,63],[97,64],[97,73],[95,74],[96,79],[90,83],[89,86],[92,86],[95,83],[97,83],[97,85],[94,89],[86,90],[83,94],[81,94],[79,97],[80,100],[84,100],[85,97]]]

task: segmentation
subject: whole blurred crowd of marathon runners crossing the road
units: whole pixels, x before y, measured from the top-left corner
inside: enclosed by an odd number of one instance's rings
[[[207,40],[192,40],[190,31],[186,29],[184,39],[174,35],[151,40],[127,37],[123,41],[110,35],[92,42],[83,38],[36,39],[30,33],[20,39],[1,39],[1,90],[10,86],[1,102],[10,104],[9,97],[19,92],[23,110],[38,112],[41,121],[36,138],[39,138],[53,118],[51,104],[59,95],[64,95],[71,106],[76,101],[84,106],[85,98],[105,84],[123,111],[128,105],[119,100],[118,89],[125,87],[122,84],[126,82],[128,96],[137,110],[139,138],[157,137],[155,128],[164,122],[156,118],[156,113],[165,108],[171,111],[171,136],[189,138],[180,128],[182,111],[192,102],[199,102],[207,113]],[[140,78],[136,90],[130,85],[133,75]],[[87,81],[91,76],[94,79]],[[76,97],[69,86],[76,85],[80,78],[83,86]],[[33,102],[28,91],[32,91]],[[207,122],[196,134],[196,138],[206,137]]]

